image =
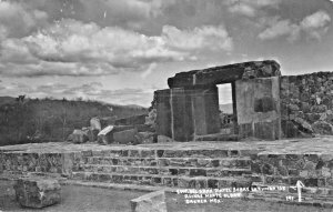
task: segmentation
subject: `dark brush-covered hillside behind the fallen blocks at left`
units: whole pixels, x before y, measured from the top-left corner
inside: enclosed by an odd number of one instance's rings
[[[89,127],[92,117],[104,124],[114,119],[147,114],[148,109],[95,101],[26,99],[0,97],[0,145],[31,142],[28,137],[41,134],[42,141],[63,141],[74,130]],[[105,121],[107,120],[107,121]]]

